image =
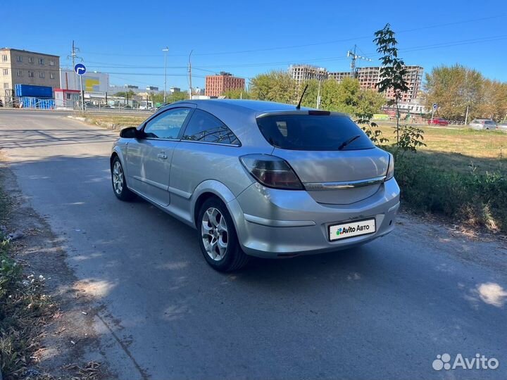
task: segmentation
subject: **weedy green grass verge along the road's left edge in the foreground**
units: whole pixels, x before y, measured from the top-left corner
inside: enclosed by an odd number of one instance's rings
[[[3,182],[0,176],[0,225],[8,226],[12,204]],[[65,376],[53,376],[38,369],[35,355],[42,348],[45,327],[54,320],[58,305],[45,293],[44,277],[24,273],[25,267],[15,259],[18,249],[16,243],[6,239],[6,231],[0,229],[0,372],[3,379],[100,379],[101,368],[96,362],[83,367],[64,367]]]

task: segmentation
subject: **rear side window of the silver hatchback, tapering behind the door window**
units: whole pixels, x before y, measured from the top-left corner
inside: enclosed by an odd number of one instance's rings
[[[239,140],[227,125],[204,110],[194,111],[182,139],[239,145]]]

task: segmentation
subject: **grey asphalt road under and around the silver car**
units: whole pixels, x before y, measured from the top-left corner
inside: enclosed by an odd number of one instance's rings
[[[0,111],[0,148],[23,193],[104,305],[96,331],[120,379],[506,379],[505,246],[404,216],[361,248],[219,274],[193,229],[115,198],[114,138]],[[432,369],[443,353],[499,368]]]

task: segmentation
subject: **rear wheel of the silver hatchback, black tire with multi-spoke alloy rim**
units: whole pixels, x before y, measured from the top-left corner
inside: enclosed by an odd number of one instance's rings
[[[239,270],[249,262],[225,204],[218,198],[204,201],[196,220],[199,246],[206,262],[219,272]]]

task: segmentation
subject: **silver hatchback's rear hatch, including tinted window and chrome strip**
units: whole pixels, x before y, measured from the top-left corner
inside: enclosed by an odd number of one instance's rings
[[[389,154],[348,116],[322,111],[268,113],[257,119],[273,156],[286,160],[315,201],[346,205],[382,186]]]

